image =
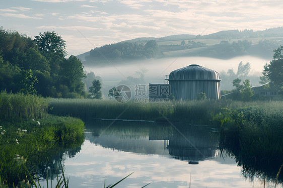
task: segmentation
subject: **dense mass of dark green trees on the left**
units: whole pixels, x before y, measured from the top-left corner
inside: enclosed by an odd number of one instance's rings
[[[0,90],[54,98],[86,98],[82,62],[66,58],[65,41],[53,32],[34,39],[0,28]]]

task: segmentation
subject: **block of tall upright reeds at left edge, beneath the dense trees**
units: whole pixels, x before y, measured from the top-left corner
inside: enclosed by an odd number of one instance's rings
[[[44,118],[47,111],[47,99],[36,95],[0,92],[0,119]]]

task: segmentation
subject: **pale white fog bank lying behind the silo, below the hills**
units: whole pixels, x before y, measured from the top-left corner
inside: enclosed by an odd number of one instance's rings
[[[170,74],[171,71],[188,66],[190,64],[198,64],[203,67],[207,67],[213,70],[227,72],[228,69],[233,68],[237,72],[240,61],[243,63],[250,62],[251,70],[249,76],[257,77],[257,79],[251,79],[252,85],[259,85],[258,80],[263,69],[263,65],[269,62],[270,59],[262,59],[254,56],[240,56],[228,60],[215,59],[208,57],[179,57],[179,58],[162,58],[162,59],[149,59],[138,60],[132,63],[114,65],[109,63],[109,66],[105,67],[85,67],[88,72],[93,71],[95,75],[101,76],[103,81],[103,87],[116,86],[121,80],[126,80],[127,76],[138,77],[135,74],[142,68],[148,69],[146,72],[145,80],[147,83],[164,83],[164,75]],[[220,79],[221,75],[220,75]],[[244,78],[249,79],[249,78]],[[231,83],[232,85],[232,83]],[[231,89],[231,88],[221,88]]]

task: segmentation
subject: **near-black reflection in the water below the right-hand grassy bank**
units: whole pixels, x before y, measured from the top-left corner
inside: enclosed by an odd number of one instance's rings
[[[249,135],[245,128],[243,128],[243,133],[237,134],[231,130],[223,131],[220,140],[221,150],[235,158],[238,166],[242,167],[244,178],[250,181],[258,178],[262,182],[269,181],[282,184],[282,171],[278,174],[277,180],[275,180],[279,168],[283,164],[282,145],[275,143],[281,142],[278,139],[278,135],[273,135],[274,138],[271,139],[266,135],[263,137],[262,132],[255,133],[253,131],[253,134],[256,135]],[[260,140],[263,141],[261,142]]]

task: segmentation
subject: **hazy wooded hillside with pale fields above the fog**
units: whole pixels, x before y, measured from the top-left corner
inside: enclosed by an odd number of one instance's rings
[[[175,56],[200,56],[230,59],[252,55],[271,59],[273,50],[283,45],[283,27],[253,30],[220,31],[208,35],[171,35],[144,37],[97,47],[78,55],[84,65],[103,65],[106,59],[115,63],[137,59]]]

